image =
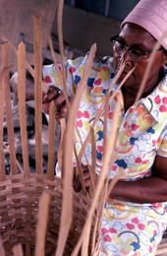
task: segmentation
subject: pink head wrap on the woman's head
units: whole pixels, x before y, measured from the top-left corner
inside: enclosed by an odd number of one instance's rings
[[[164,32],[167,32],[167,0],[140,0],[123,21],[121,28],[126,23],[139,25],[159,40]],[[167,50],[167,35],[161,41],[161,45]]]

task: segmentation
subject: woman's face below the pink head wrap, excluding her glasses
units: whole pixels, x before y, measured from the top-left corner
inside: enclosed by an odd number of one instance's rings
[[[156,40],[154,37],[149,33],[146,32],[144,29],[140,28],[138,25],[135,24],[126,24],[122,31],[119,33],[119,40],[128,47],[138,48],[144,51],[152,50]],[[113,49],[114,50],[114,49]],[[146,70],[146,66],[149,61],[150,54],[146,54],[141,57],[138,62],[135,62],[133,57],[130,56],[128,50],[125,51],[122,55],[118,54],[115,50],[114,52],[114,67],[116,73],[118,72],[121,59],[123,58],[126,62],[126,67],[119,79],[119,82],[123,80],[126,74],[136,65],[136,68],[132,75],[128,78],[128,80],[124,84],[124,88],[129,90],[131,94],[136,95],[139,91],[139,86],[142,81],[144,72]],[[153,65],[149,72],[146,85],[144,88],[143,95],[146,92],[149,92],[157,83],[160,69],[163,65],[167,63],[167,54],[161,50],[156,51]]]

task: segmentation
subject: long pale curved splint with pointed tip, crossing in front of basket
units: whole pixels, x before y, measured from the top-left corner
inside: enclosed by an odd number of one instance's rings
[[[63,255],[65,243],[68,237],[70,226],[72,223],[72,182],[73,182],[73,143],[74,143],[74,123],[76,121],[76,115],[79,108],[81,96],[86,86],[86,80],[89,75],[89,71],[92,65],[92,61],[95,55],[96,45],[93,44],[90,48],[90,52],[87,58],[87,62],[83,71],[83,79],[80,82],[79,90],[77,90],[76,97],[71,106],[69,113],[68,125],[65,133],[65,145],[63,152],[64,160],[64,192],[63,192],[63,203],[61,213],[61,225],[58,238],[58,246],[56,256]],[[68,215],[67,215],[68,213]]]

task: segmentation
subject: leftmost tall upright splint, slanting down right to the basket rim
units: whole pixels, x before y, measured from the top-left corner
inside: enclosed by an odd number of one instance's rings
[[[9,45],[8,45],[8,42],[4,43],[4,47],[2,48],[2,59],[3,59],[3,63],[4,63],[3,66],[9,67]],[[16,174],[18,172],[18,168],[17,168],[17,161],[16,161],[15,135],[14,135],[14,124],[13,124],[9,79],[10,79],[9,69],[7,69],[7,72],[6,72],[6,75],[4,78],[7,129],[8,129],[8,138],[9,138],[9,146],[10,146],[11,171],[12,171],[12,174]]]

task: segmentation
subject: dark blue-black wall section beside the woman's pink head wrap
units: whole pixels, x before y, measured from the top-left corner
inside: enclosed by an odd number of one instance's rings
[[[98,56],[112,55],[110,37],[139,0],[66,0],[63,13],[64,40],[87,52],[97,43]],[[57,34],[55,21],[53,32]]]

